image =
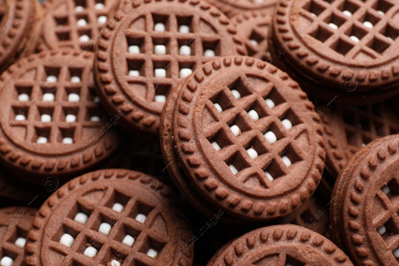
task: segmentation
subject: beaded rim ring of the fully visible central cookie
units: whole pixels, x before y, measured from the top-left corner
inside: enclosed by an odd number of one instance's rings
[[[317,132],[317,134],[315,134],[317,136],[317,140],[315,141],[317,150],[315,151],[315,158],[313,159],[311,166],[313,171],[310,171],[310,173],[304,177],[304,181],[295,189],[295,191],[299,191],[298,193],[291,192],[289,195],[284,195],[278,200],[271,200],[269,205],[266,206],[263,202],[254,204],[253,201],[245,199],[245,197],[243,199],[236,192],[229,192],[229,189],[225,188],[225,184],[218,182],[214,178],[209,178],[209,171],[205,169],[205,167],[201,167],[202,162],[199,156],[196,155],[195,144],[190,143],[192,140],[191,134],[186,130],[189,123],[186,116],[190,114],[190,107],[188,104],[184,103],[190,103],[192,101],[193,94],[196,92],[198,87],[201,86],[202,81],[205,80],[205,76],[211,76],[212,73],[216,73],[214,75],[217,75],[217,73],[219,73],[222,67],[221,60],[222,59],[215,59],[205,63],[202,68],[194,71],[194,73],[184,81],[186,89],[183,89],[182,87],[182,90],[178,95],[178,99],[182,101],[181,105],[184,105],[180,106],[182,108],[177,108],[175,106],[174,112],[174,121],[179,121],[177,124],[178,128],[174,127],[173,129],[174,132],[177,132],[175,138],[179,138],[181,141],[181,144],[176,144],[175,142],[176,152],[180,154],[179,161],[183,162],[183,167],[185,168],[186,173],[193,173],[192,179],[195,180],[194,183],[196,185],[201,187],[203,191],[209,191],[209,193],[212,193],[215,198],[219,199],[219,203],[224,207],[223,211],[232,212],[231,210],[234,209],[235,215],[240,214],[243,219],[255,219],[261,221],[281,217],[282,213],[292,213],[302,206],[304,201],[310,198],[320,182],[325,159],[325,144],[324,139],[322,138],[322,126],[316,124],[314,129]],[[223,59],[223,67],[234,67],[234,65],[240,66],[242,63],[248,67],[263,69],[271,75],[279,78],[286,83],[287,88],[289,87],[292,89],[300,97],[304,106],[306,106],[308,110],[314,110],[313,103],[307,99],[306,93],[298,89],[298,83],[290,79],[287,73],[282,72],[277,67],[271,64],[266,65],[265,61],[253,57],[237,56],[234,58],[225,57]],[[178,117],[176,116],[177,112],[179,114]],[[262,214],[265,218],[261,217]]]

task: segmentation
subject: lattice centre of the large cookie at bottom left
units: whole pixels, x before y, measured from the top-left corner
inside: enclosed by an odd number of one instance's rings
[[[43,243],[56,265],[86,265],[93,260],[107,265],[114,259],[121,265],[157,265],[170,241],[166,210],[156,197],[121,190],[104,187],[68,202],[61,223],[51,225],[57,233]],[[65,235],[67,241],[62,239]]]

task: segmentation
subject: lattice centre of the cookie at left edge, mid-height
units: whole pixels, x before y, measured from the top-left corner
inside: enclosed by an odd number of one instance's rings
[[[102,111],[91,65],[37,65],[13,83],[9,118],[18,120],[25,142],[84,143],[83,133],[99,128]]]

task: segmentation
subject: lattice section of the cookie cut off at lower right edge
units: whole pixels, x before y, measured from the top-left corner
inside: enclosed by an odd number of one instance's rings
[[[399,258],[399,183],[392,179],[375,196],[373,227],[381,235],[388,250]]]

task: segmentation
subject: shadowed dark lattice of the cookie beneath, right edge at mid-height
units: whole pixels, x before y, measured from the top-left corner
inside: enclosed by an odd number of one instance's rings
[[[344,125],[348,148],[353,154],[377,138],[398,133],[397,119],[387,116],[389,113],[381,107],[384,106],[336,107],[336,112],[342,118],[340,122]]]

